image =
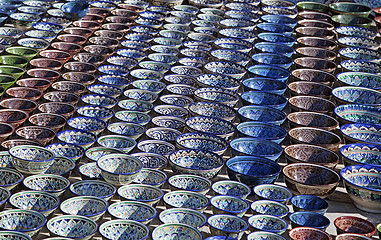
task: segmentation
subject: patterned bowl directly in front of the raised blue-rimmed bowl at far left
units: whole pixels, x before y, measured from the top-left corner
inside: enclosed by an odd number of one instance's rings
[[[36,174],[23,181],[24,186],[32,191],[43,191],[59,197],[70,186],[69,180],[53,174]]]

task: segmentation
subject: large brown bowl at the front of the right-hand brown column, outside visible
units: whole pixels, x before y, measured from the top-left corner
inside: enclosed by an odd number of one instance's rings
[[[302,174],[304,177],[300,178]],[[327,197],[333,193],[340,181],[340,176],[333,170],[310,163],[293,163],[283,169],[285,183],[290,191],[296,195],[309,194],[318,197]],[[313,176],[321,176],[314,181]]]

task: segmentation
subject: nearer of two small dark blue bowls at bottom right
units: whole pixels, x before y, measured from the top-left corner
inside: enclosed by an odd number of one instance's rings
[[[331,223],[327,217],[314,212],[294,212],[288,217],[292,228],[313,227],[325,231]]]

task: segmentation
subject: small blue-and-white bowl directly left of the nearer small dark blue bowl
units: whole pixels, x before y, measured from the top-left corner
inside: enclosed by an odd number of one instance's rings
[[[271,215],[254,215],[248,219],[248,222],[254,231],[282,234],[288,228],[286,220]]]

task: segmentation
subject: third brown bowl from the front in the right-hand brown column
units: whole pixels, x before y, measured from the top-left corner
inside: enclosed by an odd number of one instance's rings
[[[297,127],[288,131],[291,142],[293,144],[310,144],[337,151],[341,144],[341,138],[329,131],[311,128]]]

